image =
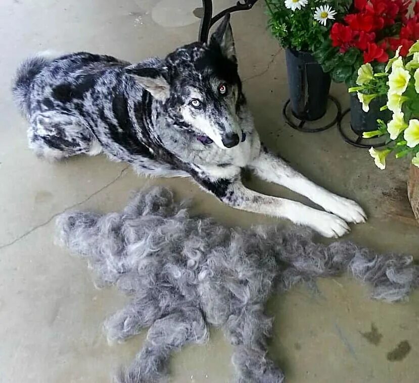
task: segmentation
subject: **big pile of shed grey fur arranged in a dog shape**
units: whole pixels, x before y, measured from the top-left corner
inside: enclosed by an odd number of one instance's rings
[[[116,377],[120,383],[164,380],[170,353],[205,343],[208,325],[223,327],[234,345],[238,382],[283,382],[266,351],[272,318],[264,306],[275,289],[349,271],[372,285],[373,298],[392,302],[419,284],[410,256],[317,244],[301,228],[226,228],[191,217],[160,187],[137,193],[120,213],[65,213],[57,228],[61,244],[87,259],[98,285],[115,284],[132,297],[106,321],[108,340],[149,327],[143,349]]]

